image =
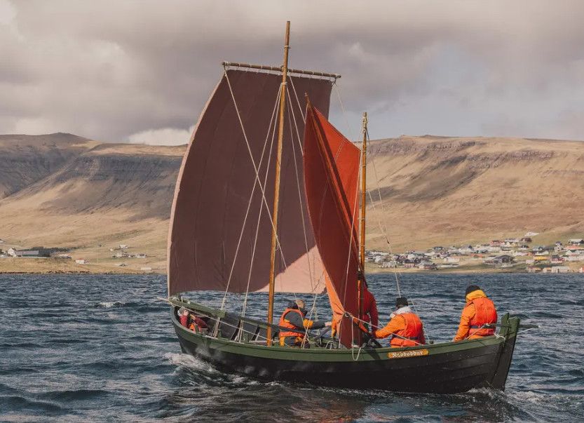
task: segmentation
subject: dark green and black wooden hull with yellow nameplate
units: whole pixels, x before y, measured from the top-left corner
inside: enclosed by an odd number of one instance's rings
[[[517,318],[510,319],[512,325],[508,320],[503,318],[501,333],[505,333],[498,337],[359,351],[265,347],[224,340],[193,333],[172,314],[182,351],[230,372],[330,387],[436,394],[480,387],[504,389],[519,324]]]

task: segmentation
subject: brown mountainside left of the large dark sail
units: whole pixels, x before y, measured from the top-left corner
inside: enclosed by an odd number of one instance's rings
[[[93,263],[163,268],[183,154],[184,146],[100,143],[70,134],[1,136],[0,239],[72,248],[74,258]],[[109,248],[121,243],[147,259],[111,259]]]

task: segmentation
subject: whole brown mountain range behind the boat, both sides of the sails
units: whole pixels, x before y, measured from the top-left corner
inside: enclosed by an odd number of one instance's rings
[[[163,269],[184,148],[0,135],[0,239]],[[394,250],[584,235],[583,142],[402,136],[372,141],[369,158],[369,248],[388,249],[385,227]],[[119,244],[148,257],[113,259]]]

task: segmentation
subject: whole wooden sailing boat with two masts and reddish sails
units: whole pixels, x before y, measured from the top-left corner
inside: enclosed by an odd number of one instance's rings
[[[496,336],[404,348],[375,345],[358,324],[367,117],[361,151],[327,121],[340,76],[289,69],[289,31],[290,22],[281,68],[224,62],[184,156],[168,243],[168,302],[182,351],[272,380],[436,393],[504,389],[517,317],[503,316]],[[199,290],[224,292],[222,306],[183,296]],[[247,294],[258,290],[269,292],[266,321],[245,316]],[[276,291],[322,290],[339,321],[337,337],[309,333],[308,349],[273,342]],[[226,311],[227,293],[245,294],[241,313]],[[208,328],[184,327],[179,309]]]

